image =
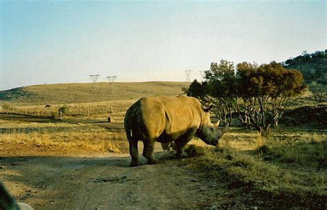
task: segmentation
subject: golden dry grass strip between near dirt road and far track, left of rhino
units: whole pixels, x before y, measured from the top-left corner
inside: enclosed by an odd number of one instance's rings
[[[79,149],[121,153],[128,151],[123,133],[88,124],[11,122],[0,120],[0,142],[37,146],[77,146]]]

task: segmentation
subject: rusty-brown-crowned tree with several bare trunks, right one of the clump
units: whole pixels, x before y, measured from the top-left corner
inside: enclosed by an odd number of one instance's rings
[[[246,62],[237,65],[239,119],[266,136],[277,127],[290,97],[306,88],[298,70],[287,70],[275,61],[257,67]]]

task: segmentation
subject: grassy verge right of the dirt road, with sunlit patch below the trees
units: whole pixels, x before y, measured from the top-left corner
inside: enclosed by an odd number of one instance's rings
[[[219,147],[199,146],[197,142],[190,145],[186,151],[196,158],[188,160],[188,167],[226,180],[233,189],[250,188],[262,195],[287,197],[293,199],[290,202],[301,202],[299,207],[324,206],[321,198],[327,196],[326,140],[326,133],[298,135],[288,131],[277,133],[268,142],[255,134],[229,133]]]

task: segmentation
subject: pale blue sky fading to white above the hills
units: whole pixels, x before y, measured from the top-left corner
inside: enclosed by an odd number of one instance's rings
[[[285,61],[326,49],[326,1],[6,1],[0,90],[199,79],[212,61]]]

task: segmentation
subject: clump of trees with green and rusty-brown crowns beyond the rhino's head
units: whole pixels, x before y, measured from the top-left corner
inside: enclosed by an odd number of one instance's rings
[[[287,70],[275,61],[261,66],[243,62],[237,64],[235,73],[232,62],[221,60],[211,64],[204,79],[201,84],[192,82],[188,95],[214,104],[216,114],[225,122],[231,122],[232,113],[236,113],[241,122],[264,137],[271,126],[278,126],[290,97],[306,88],[298,70]]]

